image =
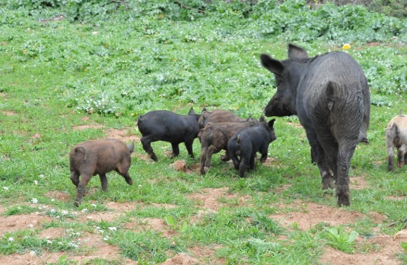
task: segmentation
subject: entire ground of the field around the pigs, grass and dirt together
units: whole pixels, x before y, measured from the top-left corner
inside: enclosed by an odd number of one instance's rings
[[[386,171],[384,135],[407,111],[404,20],[303,1],[184,3],[205,13],[167,2],[140,2],[135,14],[133,2],[94,4],[94,18],[59,1],[8,3],[0,6],[0,263],[406,262],[406,167]],[[326,13],[324,30],[315,19]],[[352,160],[351,207],[337,208],[320,189],[296,117],[277,119],[269,159],[247,179],[220,154],[201,176],[184,148],[177,159],[187,171],[176,171],[168,143],[153,143],[159,161],[148,159],[138,114],[205,106],[258,117],[275,92],[258,55],[286,58],[288,41],[310,55],[350,42],[371,85],[370,144]],[[103,137],[136,141],[134,184],[109,173],[104,193],[93,178],[74,208],[70,148]]]

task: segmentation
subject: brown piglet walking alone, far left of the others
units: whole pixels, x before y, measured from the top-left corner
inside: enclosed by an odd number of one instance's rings
[[[134,141],[126,145],[118,139],[89,140],[76,144],[69,154],[71,181],[77,188],[74,205],[79,206],[86,185],[96,174],[99,174],[103,191],[107,191],[106,173],[112,170],[117,171],[127,184],[132,185],[129,168],[133,150]]]

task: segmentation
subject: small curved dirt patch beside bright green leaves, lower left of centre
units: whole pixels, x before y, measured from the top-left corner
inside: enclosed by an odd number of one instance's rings
[[[125,228],[132,229],[135,231],[142,231],[142,230],[154,230],[158,232],[162,232],[164,237],[172,237],[177,233],[177,231],[173,230],[168,226],[164,220],[159,218],[143,218],[138,220],[133,220],[128,222],[125,225]]]

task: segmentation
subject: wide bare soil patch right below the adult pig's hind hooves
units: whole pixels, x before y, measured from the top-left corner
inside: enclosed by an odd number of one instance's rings
[[[364,214],[358,212],[347,211],[343,208],[327,207],[313,202],[295,202],[287,206],[298,209],[301,212],[274,214],[270,218],[279,221],[280,224],[287,228],[292,227],[292,224],[296,222],[301,230],[308,230],[310,227],[321,222],[330,225],[341,225],[354,223],[357,219],[365,217]],[[379,223],[386,219],[385,216],[377,213],[371,214],[371,217]]]

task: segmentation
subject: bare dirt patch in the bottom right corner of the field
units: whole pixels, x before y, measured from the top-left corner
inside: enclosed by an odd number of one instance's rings
[[[346,264],[396,265],[400,264],[395,254],[401,250],[401,241],[401,239],[393,240],[386,234],[379,234],[373,239],[365,241],[365,243],[379,246],[379,251],[366,254],[348,254],[332,247],[327,247],[324,255],[319,260],[324,264],[332,265],[343,264],[344,260],[346,260]]]

